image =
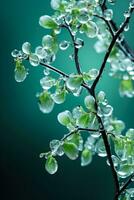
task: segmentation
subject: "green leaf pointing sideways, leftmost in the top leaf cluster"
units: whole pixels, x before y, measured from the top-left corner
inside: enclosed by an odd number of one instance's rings
[[[48,15],[41,16],[39,19],[39,24],[46,29],[56,29],[58,27],[54,19]]]

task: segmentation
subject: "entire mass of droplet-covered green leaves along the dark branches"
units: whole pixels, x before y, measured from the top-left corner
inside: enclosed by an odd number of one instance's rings
[[[108,2],[112,5],[115,3],[114,0]],[[88,89],[89,92],[99,76],[100,71],[96,68],[80,73],[77,69],[78,73],[67,75],[51,64],[55,61],[59,49],[65,51],[73,47],[79,50],[84,46],[84,41],[77,37],[78,33],[85,34],[88,38],[97,38],[94,45],[97,53],[107,51],[115,32],[110,25],[113,11],[103,10],[104,3],[103,0],[51,0],[51,7],[55,10],[54,15],[44,15],[39,19],[41,27],[50,29],[50,35],[44,35],[41,44],[35,50],[29,42],[25,42],[21,50],[12,51],[17,82],[23,82],[28,75],[28,70],[23,64],[24,60],[28,60],[34,67],[38,65],[45,67],[44,76],[40,80],[42,92],[37,95],[39,108],[43,113],[50,113],[55,104],[64,103],[68,93],[80,96],[83,88]],[[134,8],[134,2],[130,3],[130,8]],[[129,15],[129,11],[124,14],[125,18]],[[63,40],[59,43],[58,35],[63,28],[70,33],[72,40]],[[124,30],[129,30],[128,24]],[[119,35],[108,56],[107,62],[111,65],[109,75],[121,79],[119,89],[121,96],[133,97],[134,63],[132,56],[123,49],[123,40],[123,35]],[[75,51],[70,57],[78,68],[77,52]],[[53,78],[51,70],[60,76]],[[59,123],[69,132],[61,140],[52,140],[49,144],[50,151],[40,154],[41,158],[46,159],[45,168],[50,174],[56,173],[58,170],[56,156],[64,154],[71,160],[77,159],[80,154],[81,166],[89,165],[94,154],[106,157],[106,145],[98,120],[101,119],[111,148],[114,170],[122,184],[124,179],[133,177],[134,174],[134,129],[129,129],[124,135],[122,134],[125,125],[121,120],[113,117],[113,107],[109,105],[103,91],[97,95],[93,95],[93,92],[88,94],[84,104],[85,108],[77,106],[72,112],[66,110],[58,114]],[[89,134],[86,139],[83,139],[83,132]],[[107,164],[111,166],[109,160]],[[131,181],[134,181],[134,178],[131,178]],[[134,197],[133,188],[125,189],[126,193],[120,195],[120,200]]]

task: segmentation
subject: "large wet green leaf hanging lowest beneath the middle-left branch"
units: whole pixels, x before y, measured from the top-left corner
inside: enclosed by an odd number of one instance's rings
[[[42,92],[38,96],[39,108],[43,113],[50,113],[54,108],[54,101],[51,94],[47,91]]]

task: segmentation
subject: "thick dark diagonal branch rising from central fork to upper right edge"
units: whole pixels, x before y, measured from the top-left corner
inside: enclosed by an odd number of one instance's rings
[[[108,48],[108,50],[107,50],[107,52],[106,52],[106,54],[105,54],[105,56],[104,56],[104,60],[103,60],[103,63],[102,63],[102,65],[101,65],[99,74],[98,74],[98,76],[96,77],[95,81],[93,82],[93,84],[92,84],[92,86],[91,86],[91,90],[94,90],[95,87],[96,87],[96,85],[98,84],[98,82],[99,82],[99,80],[100,80],[100,77],[101,77],[101,75],[102,75],[102,73],[103,73],[103,71],[104,71],[104,68],[105,68],[107,59],[108,59],[108,57],[109,57],[109,55],[110,55],[110,53],[111,53],[111,51],[112,51],[112,48],[113,48],[113,46],[115,45],[117,38],[118,38],[118,37],[120,36],[120,34],[124,31],[125,26],[129,23],[129,20],[130,20],[130,17],[131,17],[131,14],[132,14],[133,10],[134,10],[134,8],[131,8],[131,9],[130,9],[130,16],[126,17],[124,23],[121,25],[120,29],[116,32],[115,36],[113,37],[113,39],[112,39],[112,41],[111,41],[111,43],[110,43],[110,45],[109,45],[109,48]]]

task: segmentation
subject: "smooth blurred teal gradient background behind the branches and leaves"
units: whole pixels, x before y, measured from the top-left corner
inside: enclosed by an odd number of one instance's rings
[[[127,0],[117,0],[115,19],[118,24],[123,20],[122,12],[127,9],[127,4]],[[90,166],[82,168],[79,160],[73,162],[64,157],[59,160],[58,173],[50,176],[38,157],[40,152],[48,150],[51,139],[61,138],[66,133],[66,129],[57,122],[58,112],[71,110],[83,102],[82,97],[74,98],[69,95],[64,105],[56,106],[49,115],[43,115],[35,97],[41,90],[39,79],[43,75],[42,68],[30,67],[30,75],[22,84],[17,84],[14,80],[11,50],[21,48],[24,41],[30,41],[33,47],[40,44],[41,37],[48,31],[38,25],[38,18],[51,13],[50,0],[5,0],[1,3],[1,199],[112,200],[112,176],[105,159],[95,157]],[[63,38],[68,38],[66,32],[62,32],[60,40]],[[126,35],[132,48],[133,38],[134,17]],[[100,66],[103,55],[97,55],[92,49],[94,41],[87,41],[86,47],[80,52],[84,70],[89,66]],[[74,65],[67,58],[68,53],[59,52],[54,65],[71,72]],[[119,82],[107,76],[108,70],[107,68],[104,73],[99,89],[106,91],[109,102],[114,106],[114,115],[124,120],[127,127],[133,127],[134,100],[119,97]]]

